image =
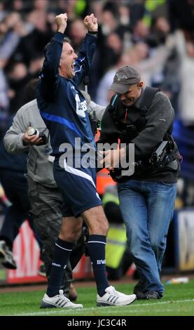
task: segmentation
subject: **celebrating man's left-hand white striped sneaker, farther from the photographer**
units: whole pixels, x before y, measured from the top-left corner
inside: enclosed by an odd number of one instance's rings
[[[71,303],[71,301],[64,296],[63,290],[59,292],[60,294],[51,298],[45,293],[41,302],[41,308],[83,308],[83,305],[80,303]]]

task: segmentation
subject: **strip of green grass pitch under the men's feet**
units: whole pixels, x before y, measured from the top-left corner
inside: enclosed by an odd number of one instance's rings
[[[40,309],[43,291],[1,293],[0,315],[15,316],[193,316],[194,315],[194,280],[187,284],[165,284],[165,296],[161,300],[134,301],[125,307],[96,307],[95,284],[92,287],[79,287],[78,303],[81,310],[64,308]],[[132,293],[134,284],[116,284],[118,291]]]

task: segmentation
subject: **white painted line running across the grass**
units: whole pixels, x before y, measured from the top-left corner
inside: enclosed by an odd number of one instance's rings
[[[137,304],[132,304],[130,305],[129,308],[133,308],[133,310],[129,310],[129,312],[138,312],[137,307],[141,306],[141,311],[142,311],[142,307],[144,306],[150,306],[150,305],[158,305],[160,307],[160,305],[167,305],[167,304],[172,304],[172,303],[191,303],[194,302],[194,299],[183,299],[180,301],[161,301],[161,302],[157,302],[157,303],[137,303]],[[108,308],[110,308],[111,306],[107,306]],[[119,307],[119,306],[116,306]],[[120,306],[120,307],[127,307],[127,306]],[[136,310],[134,310],[134,308],[136,308]],[[99,308],[98,308],[99,309]],[[87,311],[91,311],[91,310],[97,310],[97,308],[91,307],[91,308],[78,308],[78,309],[72,309],[72,308],[53,308],[52,310],[43,310],[41,312],[29,312],[29,313],[22,313],[22,314],[12,314],[12,315],[6,315],[6,316],[36,316],[36,315],[51,315],[51,314],[62,314],[65,315],[66,313],[69,313],[69,311],[74,311],[74,316],[76,316],[76,312],[87,312]],[[114,312],[114,310],[113,310]],[[71,316],[71,315],[69,315]],[[72,315],[73,316],[73,315]],[[98,315],[96,315],[98,316]],[[127,316],[127,315],[124,315]]]

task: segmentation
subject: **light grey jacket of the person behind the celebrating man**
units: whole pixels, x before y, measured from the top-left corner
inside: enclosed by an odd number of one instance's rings
[[[96,105],[90,101],[88,112],[93,119],[101,120],[106,107]],[[22,136],[27,128],[32,126],[39,132],[44,133],[48,138],[46,145],[28,145],[22,143]],[[11,154],[20,154],[24,150],[29,150],[27,159],[27,174],[32,180],[46,187],[56,187],[53,178],[53,157],[50,157],[52,148],[50,146],[50,136],[48,129],[41,118],[36,99],[20,107],[15,114],[12,126],[4,137],[6,150]]]

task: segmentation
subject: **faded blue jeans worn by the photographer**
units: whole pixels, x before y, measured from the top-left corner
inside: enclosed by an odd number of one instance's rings
[[[127,230],[127,244],[141,282],[142,292],[157,291],[167,232],[174,211],[176,183],[128,180],[118,183],[120,211]]]

